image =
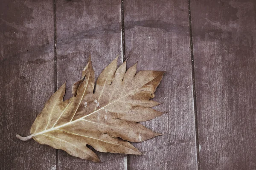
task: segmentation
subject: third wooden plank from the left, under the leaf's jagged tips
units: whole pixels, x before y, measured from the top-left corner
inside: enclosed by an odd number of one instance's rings
[[[169,111],[143,123],[163,133],[135,143],[144,156],[129,156],[129,170],[196,170],[195,117],[187,0],[124,0],[125,53],[128,65],[166,74],[154,100]]]

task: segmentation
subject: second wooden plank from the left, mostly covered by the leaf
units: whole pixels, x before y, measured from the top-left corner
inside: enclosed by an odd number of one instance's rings
[[[66,98],[71,97],[72,84],[81,78],[89,54],[96,77],[117,54],[122,54],[120,3],[120,0],[56,2],[57,79],[58,87],[68,80]],[[119,58],[119,64],[121,61],[122,57]],[[125,169],[126,155],[96,153],[102,163],[82,160],[60,150],[59,169]]]

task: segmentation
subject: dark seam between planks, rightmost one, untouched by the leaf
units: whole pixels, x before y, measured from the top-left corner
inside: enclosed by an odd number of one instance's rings
[[[194,101],[194,113],[195,113],[195,140],[196,140],[196,153],[197,153],[197,167],[198,167],[198,170],[200,170],[199,133],[198,133],[198,121],[197,121],[198,113],[197,113],[196,87],[195,87],[195,63],[194,63],[190,0],[188,0],[188,13],[189,13],[189,43],[190,43],[190,55],[191,55],[192,87],[193,87],[193,101]]]

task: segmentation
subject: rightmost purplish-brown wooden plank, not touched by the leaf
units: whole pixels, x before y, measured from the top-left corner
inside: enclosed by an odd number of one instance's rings
[[[202,170],[256,169],[255,8],[191,2]]]

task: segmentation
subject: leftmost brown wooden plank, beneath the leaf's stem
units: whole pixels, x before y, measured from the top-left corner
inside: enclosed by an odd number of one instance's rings
[[[2,0],[0,6],[0,169],[50,170],[55,149],[22,142],[54,92],[53,3]]]

